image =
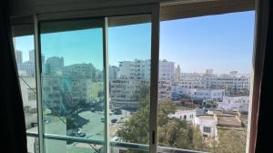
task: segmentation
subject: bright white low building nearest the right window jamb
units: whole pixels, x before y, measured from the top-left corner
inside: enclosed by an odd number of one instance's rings
[[[224,96],[218,103],[219,109],[233,111],[248,111],[249,96]]]

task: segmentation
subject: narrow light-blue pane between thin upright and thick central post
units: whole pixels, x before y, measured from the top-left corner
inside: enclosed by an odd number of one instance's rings
[[[150,113],[150,15],[109,17],[111,152],[147,152]],[[118,143],[120,142],[120,143]],[[122,142],[122,143],[121,143]],[[129,148],[143,144],[147,151]],[[144,150],[145,150],[144,149]]]

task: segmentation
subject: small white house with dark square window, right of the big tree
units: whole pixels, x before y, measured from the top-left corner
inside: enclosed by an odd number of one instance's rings
[[[195,117],[193,124],[199,128],[203,136],[217,138],[217,116],[200,115]]]

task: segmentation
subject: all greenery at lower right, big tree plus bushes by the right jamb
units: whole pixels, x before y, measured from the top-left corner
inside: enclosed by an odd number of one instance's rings
[[[137,90],[145,98],[140,98],[139,109],[132,114],[122,128],[117,130],[116,136],[120,141],[140,144],[149,142],[149,97],[146,92]],[[176,104],[167,99],[158,103],[157,110],[157,145],[170,148],[185,148],[215,153],[241,153],[246,150],[246,131],[219,129],[218,141],[213,138],[203,138],[199,129],[194,128],[177,118],[167,117],[175,113]],[[207,140],[208,141],[207,141]],[[206,142],[209,142],[208,145]],[[128,150],[131,152],[141,152]]]

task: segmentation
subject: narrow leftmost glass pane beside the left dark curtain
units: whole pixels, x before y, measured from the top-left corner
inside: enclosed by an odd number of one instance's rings
[[[25,111],[26,132],[37,133],[37,107],[35,82],[35,43],[32,25],[12,27],[15,61]],[[27,149],[34,153],[34,139],[27,137]]]

